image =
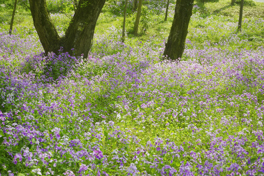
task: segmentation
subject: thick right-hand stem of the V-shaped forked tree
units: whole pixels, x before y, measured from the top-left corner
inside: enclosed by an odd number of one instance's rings
[[[91,48],[93,34],[97,19],[106,0],[80,0],[72,21],[65,32],[65,49],[84,58],[88,56]]]

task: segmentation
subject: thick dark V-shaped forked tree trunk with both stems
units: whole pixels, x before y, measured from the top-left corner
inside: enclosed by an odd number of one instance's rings
[[[46,8],[46,0],[29,0],[34,26],[44,51],[64,52],[86,58],[90,50],[96,21],[106,0],[80,0],[65,37],[60,38]],[[74,48],[74,51],[72,51]]]

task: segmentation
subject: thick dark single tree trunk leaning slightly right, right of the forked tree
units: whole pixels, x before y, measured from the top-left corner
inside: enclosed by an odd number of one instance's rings
[[[194,0],[176,1],[172,28],[163,53],[166,59],[178,60],[181,58],[185,47],[193,5]]]

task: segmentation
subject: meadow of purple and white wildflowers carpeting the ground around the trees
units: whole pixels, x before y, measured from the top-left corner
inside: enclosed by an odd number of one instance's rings
[[[180,62],[114,26],[88,58],[0,29],[0,176],[264,176],[264,47],[247,36],[264,19],[236,33],[195,8]]]

